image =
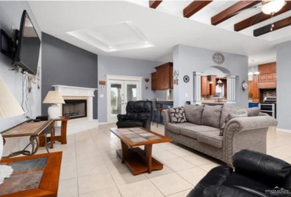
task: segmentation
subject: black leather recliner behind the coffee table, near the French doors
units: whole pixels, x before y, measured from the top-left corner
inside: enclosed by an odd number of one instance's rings
[[[126,105],[126,114],[118,114],[117,128],[142,126],[150,129],[152,116],[151,101],[129,101]]]

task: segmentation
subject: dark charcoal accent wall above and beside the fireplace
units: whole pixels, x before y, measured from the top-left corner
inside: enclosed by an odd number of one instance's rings
[[[52,85],[97,88],[97,55],[49,34],[42,33],[42,100]],[[93,118],[97,119],[97,91],[93,98]],[[42,104],[47,114],[49,104]]]

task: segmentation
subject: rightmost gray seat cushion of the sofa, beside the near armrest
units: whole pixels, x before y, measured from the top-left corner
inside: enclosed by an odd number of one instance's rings
[[[197,140],[204,144],[210,145],[216,148],[222,148],[223,137],[219,135],[219,131],[210,131],[198,133]]]

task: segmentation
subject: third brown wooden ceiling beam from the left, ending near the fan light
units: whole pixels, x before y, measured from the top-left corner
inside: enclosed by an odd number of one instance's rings
[[[211,24],[218,25],[229,18],[235,16],[236,12],[253,7],[254,5],[260,3],[261,0],[240,0],[217,15],[211,17]]]

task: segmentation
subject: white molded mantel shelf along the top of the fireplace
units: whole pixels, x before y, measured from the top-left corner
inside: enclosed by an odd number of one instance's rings
[[[97,90],[97,88],[84,88],[66,85],[52,85],[52,86],[62,96],[70,97],[95,97],[94,91]]]

